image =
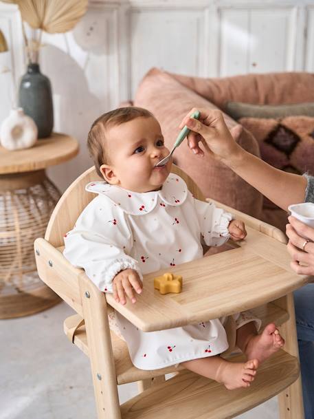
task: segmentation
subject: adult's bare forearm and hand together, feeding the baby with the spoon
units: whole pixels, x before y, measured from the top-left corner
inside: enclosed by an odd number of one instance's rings
[[[199,111],[200,120],[186,116],[180,125],[180,127],[187,125],[192,130],[188,136],[188,144],[195,154],[204,154],[199,147],[201,141],[205,153],[229,166],[237,175],[285,211],[290,204],[304,202],[307,184],[304,176],[275,169],[243,150],[232,138],[221,111],[212,109],[199,109]],[[239,128],[240,125],[234,129]]]

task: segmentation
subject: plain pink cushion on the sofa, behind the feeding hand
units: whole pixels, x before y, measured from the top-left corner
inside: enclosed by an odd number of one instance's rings
[[[170,149],[179,133],[179,123],[192,107],[215,109],[216,106],[166,72],[152,69],[142,80],[135,95],[134,105],[153,112],[159,120],[166,145]],[[229,127],[236,122],[225,115]],[[258,144],[243,130],[238,143],[254,155],[259,155]],[[240,211],[260,217],[262,195],[232,170],[206,155],[195,156],[184,141],[174,153],[175,162],[198,184],[205,197],[223,202]]]

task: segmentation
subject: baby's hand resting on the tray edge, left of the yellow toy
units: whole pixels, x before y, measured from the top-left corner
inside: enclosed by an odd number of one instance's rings
[[[117,303],[124,305],[126,303],[126,296],[132,301],[132,303],[135,303],[136,299],[134,297],[134,290],[137,294],[140,294],[142,292],[142,288],[143,284],[139,279],[139,275],[136,270],[122,270],[113,278],[113,297]]]

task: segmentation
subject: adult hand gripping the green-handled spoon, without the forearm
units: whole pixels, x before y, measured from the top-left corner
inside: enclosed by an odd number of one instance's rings
[[[200,111],[199,120],[190,118],[190,115],[197,110]],[[204,155],[199,142],[203,144],[205,151],[217,160],[228,160],[240,149],[232,136],[238,137],[242,131],[241,125],[236,125],[229,131],[223,114],[218,109],[193,108],[183,118],[179,127],[182,128],[184,125],[191,130],[188,134],[188,145],[194,154]]]

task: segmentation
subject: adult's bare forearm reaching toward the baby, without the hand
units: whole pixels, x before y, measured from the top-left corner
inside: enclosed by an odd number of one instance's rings
[[[291,204],[304,202],[306,178],[302,175],[275,169],[240,147],[224,163],[285,211]]]

